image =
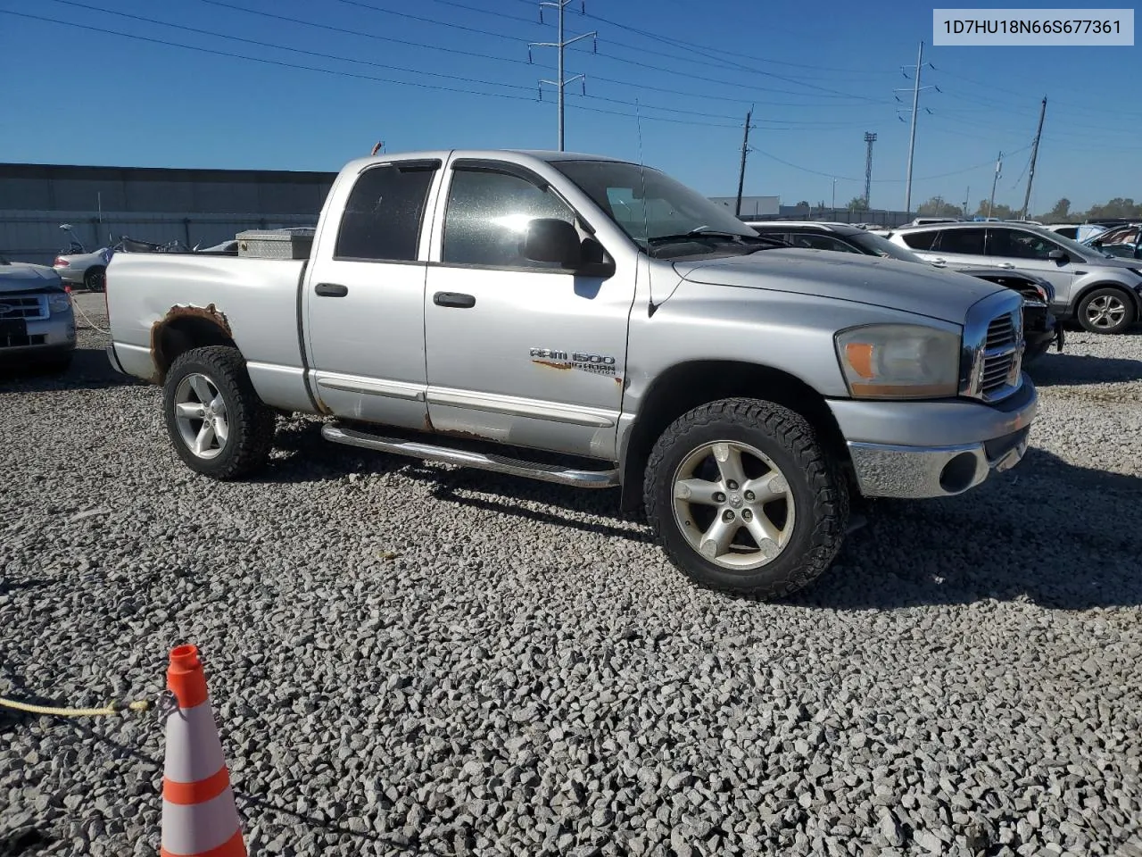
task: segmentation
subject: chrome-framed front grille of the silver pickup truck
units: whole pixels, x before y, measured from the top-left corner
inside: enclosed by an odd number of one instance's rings
[[[1023,299],[1016,291],[984,298],[964,327],[960,393],[994,402],[1022,386]]]

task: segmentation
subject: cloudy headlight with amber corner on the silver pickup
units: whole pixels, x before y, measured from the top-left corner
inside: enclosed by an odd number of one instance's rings
[[[854,399],[935,399],[959,392],[960,337],[920,325],[868,325],[836,336]]]

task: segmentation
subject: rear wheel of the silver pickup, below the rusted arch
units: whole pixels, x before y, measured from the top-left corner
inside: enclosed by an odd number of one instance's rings
[[[275,418],[250,383],[236,349],[211,345],[180,354],[163,383],[167,433],[196,473],[240,479],[270,457]]]

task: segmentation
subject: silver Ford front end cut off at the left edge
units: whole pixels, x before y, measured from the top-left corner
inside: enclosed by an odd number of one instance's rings
[[[0,257],[0,363],[63,371],[75,351],[75,315],[59,274]]]

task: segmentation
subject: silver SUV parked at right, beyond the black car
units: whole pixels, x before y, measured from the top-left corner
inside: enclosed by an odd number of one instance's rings
[[[1097,334],[1127,330],[1142,311],[1142,266],[1039,226],[954,223],[907,226],[888,240],[941,266],[1003,267],[1042,277],[1055,288],[1051,311]]]

